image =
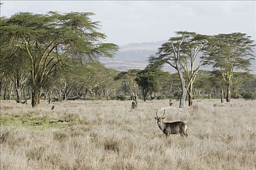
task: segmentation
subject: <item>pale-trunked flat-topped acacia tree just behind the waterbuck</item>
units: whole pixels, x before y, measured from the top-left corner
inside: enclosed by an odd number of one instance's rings
[[[207,57],[207,53],[204,54],[196,69],[194,69],[195,58],[198,52],[204,50],[207,41],[204,35],[189,32],[176,32],[176,34],[176,37],[171,37],[168,42],[158,48],[157,56],[149,57],[149,67],[160,67],[168,64],[177,70],[181,85],[181,88],[178,87],[181,92],[179,108],[184,108],[187,91],[190,87],[192,88],[191,83],[195,81],[197,72],[202,65],[202,61]],[[190,73],[188,60],[191,63]],[[187,83],[183,77],[184,70],[187,73]]]

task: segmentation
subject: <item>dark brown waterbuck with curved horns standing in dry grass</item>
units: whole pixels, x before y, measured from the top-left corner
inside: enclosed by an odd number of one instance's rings
[[[163,115],[165,114],[165,109]],[[180,134],[180,136],[188,136],[187,134],[187,124],[183,121],[175,121],[175,122],[163,122],[162,119],[165,117],[158,118],[158,110],[157,110],[157,117],[155,119],[158,120],[158,126],[163,131],[163,133],[168,137],[171,134]]]

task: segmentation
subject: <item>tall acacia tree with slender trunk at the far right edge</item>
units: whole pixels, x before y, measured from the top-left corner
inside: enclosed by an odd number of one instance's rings
[[[211,40],[209,48],[210,57],[204,64],[213,65],[217,70],[220,70],[222,79],[226,84],[226,101],[230,102],[231,87],[234,79],[234,71],[249,70],[250,61],[254,59],[252,54],[255,44],[251,40],[251,36],[242,33],[218,34]]]

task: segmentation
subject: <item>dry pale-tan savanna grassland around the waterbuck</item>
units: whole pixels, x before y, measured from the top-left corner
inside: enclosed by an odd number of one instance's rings
[[[0,169],[256,169],[256,101],[195,100],[168,109],[165,121],[186,122],[188,137],[166,138],[154,117],[168,103],[131,110],[130,101],[41,101],[37,108],[1,101]]]

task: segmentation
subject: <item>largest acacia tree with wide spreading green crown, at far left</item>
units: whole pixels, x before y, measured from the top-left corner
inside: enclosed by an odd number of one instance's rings
[[[99,22],[93,13],[18,13],[1,21],[1,42],[26,51],[30,60],[32,107],[39,104],[42,87],[63,58],[112,57],[118,46],[102,43]],[[4,36],[2,36],[4,35]],[[14,41],[15,40],[15,41]]]

